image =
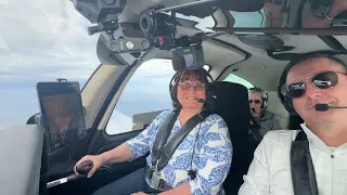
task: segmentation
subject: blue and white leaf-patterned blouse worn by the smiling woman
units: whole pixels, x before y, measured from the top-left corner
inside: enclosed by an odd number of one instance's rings
[[[126,142],[132,154],[131,160],[152,151],[158,127],[170,112],[160,113],[144,131]],[[180,128],[177,119],[169,139]],[[162,176],[172,187],[189,183],[193,195],[223,194],[222,182],[229,173],[231,161],[232,143],[227,123],[220,116],[213,114],[185,136],[162,170]],[[146,157],[146,162],[151,165],[151,155]],[[188,176],[191,166],[196,170],[194,180]],[[153,187],[149,179],[146,182]]]

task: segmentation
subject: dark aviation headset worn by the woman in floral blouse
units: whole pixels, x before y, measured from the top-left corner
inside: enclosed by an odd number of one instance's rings
[[[213,84],[214,84],[214,78],[210,76],[210,74],[204,69],[200,68],[197,69],[203,73],[203,75],[206,77],[207,82],[205,83],[205,91],[206,91],[206,100],[205,100],[205,105],[207,106],[208,109],[214,109],[214,92],[213,92]],[[182,77],[183,72],[176,72],[174,77],[170,80],[169,84],[169,90],[170,90],[170,96],[174,102],[174,107],[175,108],[181,108],[181,105],[176,105],[175,103],[179,103],[177,99],[177,88],[178,83]]]

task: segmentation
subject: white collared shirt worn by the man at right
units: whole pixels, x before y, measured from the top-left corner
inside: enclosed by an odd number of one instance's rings
[[[347,143],[329,147],[301,125],[309,140],[319,195],[347,195]],[[239,195],[293,195],[291,145],[298,130],[269,131],[257,147]]]

